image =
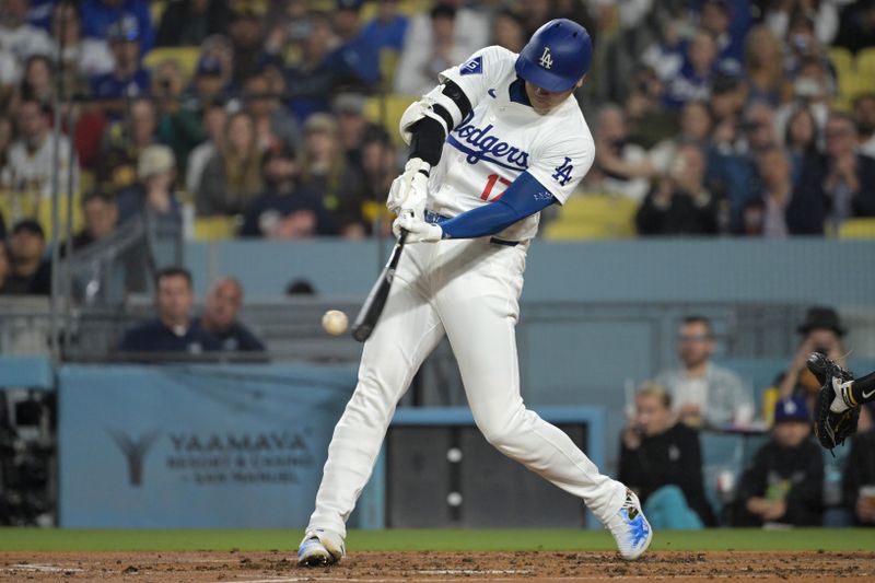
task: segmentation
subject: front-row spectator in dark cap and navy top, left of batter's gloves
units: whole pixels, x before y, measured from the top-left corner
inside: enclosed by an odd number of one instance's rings
[[[241,235],[273,240],[337,234],[318,193],[298,185],[294,152],[271,150],[262,159],[265,191],[244,211]]]

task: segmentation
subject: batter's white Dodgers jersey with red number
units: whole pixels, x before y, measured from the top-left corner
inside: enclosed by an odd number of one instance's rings
[[[564,203],[593,165],[595,144],[576,100],[546,115],[511,101],[516,54],[487,47],[441,73],[465,92],[472,112],[450,132],[429,180],[429,209],[455,217],[493,202],[528,171]],[[545,193],[545,196],[548,196]],[[501,238],[535,236],[540,213],[509,226]]]

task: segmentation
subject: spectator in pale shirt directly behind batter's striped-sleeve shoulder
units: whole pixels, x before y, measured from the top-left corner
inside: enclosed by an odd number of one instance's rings
[[[456,42],[456,8],[439,3],[430,15],[431,34],[428,39],[405,45],[395,73],[396,93],[423,95],[434,86],[434,80],[441,71],[470,56],[465,45]]]

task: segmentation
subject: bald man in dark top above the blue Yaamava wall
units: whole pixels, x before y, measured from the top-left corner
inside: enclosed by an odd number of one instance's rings
[[[237,320],[243,303],[243,285],[233,278],[222,278],[207,294],[200,324],[222,345],[222,350],[264,352],[265,345]]]

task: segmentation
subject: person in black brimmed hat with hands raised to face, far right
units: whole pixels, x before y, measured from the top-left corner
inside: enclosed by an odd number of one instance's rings
[[[845,350],[841,339],[847,330],[836,310],[822,305],[809,307],[796,331],[802,340],[779,386],[782,398],[794,395],[814,396],[820,389],[820,383],[805,364],[812,352],[822,352],[840,365],[845,364]]]

